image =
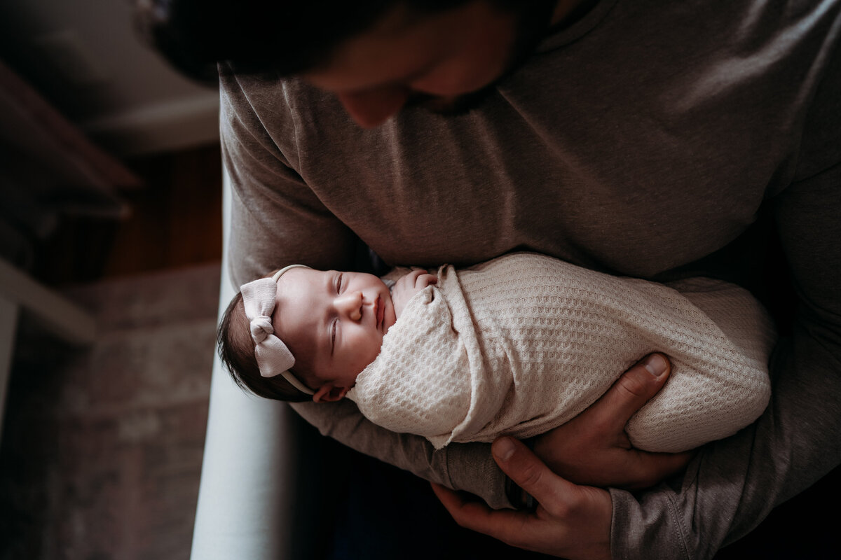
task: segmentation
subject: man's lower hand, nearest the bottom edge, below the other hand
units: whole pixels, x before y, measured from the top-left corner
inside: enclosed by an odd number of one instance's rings
[[[570,560],[611,557],[612,503],[606,490],[572,484],[553,474],[513,437],[497,439],[491,453],[505,474],[537,500],[537,509],[491,510],[483,501],[432,484],[458,525],[513,547]]]

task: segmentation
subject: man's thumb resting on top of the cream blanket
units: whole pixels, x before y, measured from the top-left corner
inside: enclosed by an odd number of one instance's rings
[[[595,424],[621,432],[627,421],[663,388],[671,364],[663,354],[653,353],[621,375],[591,407]]]

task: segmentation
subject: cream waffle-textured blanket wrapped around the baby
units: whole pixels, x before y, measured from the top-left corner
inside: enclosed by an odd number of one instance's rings
[[[718,280],[660,285],[539,254],[456,270],[405,306],[348,396],[394,432],[449,442],[532,437],[590,406],[653,351],[672,375],[632,417],[635,447],[676,452],[727,437],[770,398],[770,317]]]

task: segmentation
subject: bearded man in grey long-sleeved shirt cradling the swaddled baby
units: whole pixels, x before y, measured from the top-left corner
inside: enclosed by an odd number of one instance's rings
[[[168,4],[176,31],[161,44],[177,64],[226,61],[237,284],[291,263],[344,270],[361,239],[389,264],[529,249],[648,280],[749,285],[746,255],[774,222],[775,270],[799,308],[780,316],[759,421],[703,447],[672,484],[616,489],[684,464],[622,447],[622,417],[663,383],[640,365],[573,421],[584,442],[565,427],[534,442],[569,480],[496,443],[542,500],[537,515],[436,489],[465,526],[502,538],[516,526],[571,558],[711,557],[841,462],[841,3]],[[296,410],[365,453],[518,505],[487,444],[433,452],[373,432],[349,403]],[[639,462],[626,468],[617,450]]]

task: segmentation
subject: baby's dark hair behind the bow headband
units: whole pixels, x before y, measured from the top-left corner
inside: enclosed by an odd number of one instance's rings
[[[241,293],[230,301],[222,315],[216,332],[216,347],[222,364],[242,390],[267,399],[289,402],[312,400],[312,396],[295,389],[283,376],[263,377],[260,374]]]

